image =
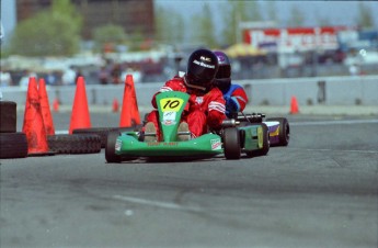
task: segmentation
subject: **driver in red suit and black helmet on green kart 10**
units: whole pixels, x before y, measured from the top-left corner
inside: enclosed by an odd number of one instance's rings
[[[196,138],[207,132],[208,128],[219,129],[225,114],[225,99],[222,92],[215,87],[214,80],[218,71],[218,58],[209,49],[197,49],[191,54],[187,60],[186,74],[175,76],[167,81],[152,97],[152,106],[157,109],[156,95],[165,91],[182,91],[190,94],[185,106],[179,133],[180,140]],[[156,134],[146,136],[146,142],[160,140],[158,124],[159,112],[153,110],[146,116],[145,133]]]

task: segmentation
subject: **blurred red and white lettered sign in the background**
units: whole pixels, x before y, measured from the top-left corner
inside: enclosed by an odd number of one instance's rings
[[[337,32],[343,30],[346,27],[251,29],[244,31],[244,42],[255,48],[275,52],[336,49],[339,47]]]

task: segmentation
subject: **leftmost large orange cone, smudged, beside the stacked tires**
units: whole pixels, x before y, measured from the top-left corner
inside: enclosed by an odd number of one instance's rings
[[[51,154],[48,151],[46,131],[41,112],[38,88],[34,77],[28,79],[22,132],[26,135],[28,156]]]

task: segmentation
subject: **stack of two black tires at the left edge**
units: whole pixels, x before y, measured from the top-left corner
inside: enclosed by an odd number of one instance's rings
[[[16,132],[16,103],[0,101],[0,158],[25,158],[27,139]]]

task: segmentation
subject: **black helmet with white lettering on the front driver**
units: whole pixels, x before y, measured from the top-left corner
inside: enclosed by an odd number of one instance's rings
[[[217,56],[208,49],[193,52],[187,61],[186,84],[190,88],[208,90],[218,71]]]

